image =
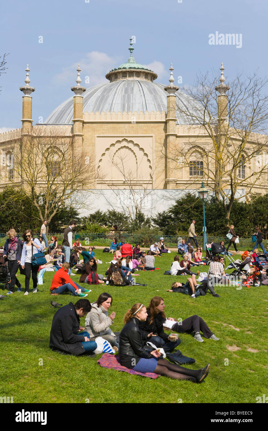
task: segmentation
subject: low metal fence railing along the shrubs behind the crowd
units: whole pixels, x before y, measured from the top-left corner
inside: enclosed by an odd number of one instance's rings
[[[34,233],[34,237],[39,237],[40,233]],[[49,232],[47,234],[48,241],[50,240],[51,236],[57,237],[58,244],[62,244],[63,240],[63,234],[62,233],[53,233]],[[82,245],[94,245],[94,246],[103,246],[103,247],[109,247],[113,238],[114,234],[90,234],[90,233],[74,233],[74,240],[78,237],[80,239],[80,243]],[[162,235],[141,235],[141,234],[124,234],[124,235],[118,235],[117,240],[120,241],[126,241],[129,244],[135,245],[140,244],[142,247],[149,247],[151,244],[154,244],[154,242],[158,242],[160,240],[160,237]],[[21,237],[21,236],[20,236]],[[178,238],[184,239],[185,241],[188,240],[188,235],[184,236],[164,236],[165,244],[166,246],[169,246],[170,248],[176,248],[178,245]],[[22,238],[22,237],[21,237]],[[7,237],[6,234],[0,233],[0,245],[3,246]],[[220,241],[225,242],[226,244],[229,243],[228,238],[226,237],[215,237],[215,236],[208,236],[208,242],[215,242],[218,243]],[[203,237],[197,236],[197,243],[202,245]],[[266,250],[266,245],[268,244],[268,240],[262,241],[263,246]],[[239,238],[239,244],[237,245],[238,250],[252,250],[253,242],[251,238]],[[232,247],[233,248],[233,247]]]

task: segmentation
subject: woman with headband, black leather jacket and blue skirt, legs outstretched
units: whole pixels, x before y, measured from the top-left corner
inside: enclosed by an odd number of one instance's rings
[[[146,317],[146,307],[141,303],[134,304],[126,312],[125,326],[120,332],[120,364],[142,373],[154,372],[178,380],[190,380],[200,383],[209,372],[209,364],[200,370],[190,370],[172,364],[166,359],[160,359],[158,350],[153,350],[150,353],[144,350],[139,322],[144,322]]]

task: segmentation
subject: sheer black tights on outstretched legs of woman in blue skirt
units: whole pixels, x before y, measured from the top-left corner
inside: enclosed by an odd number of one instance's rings
[[[180,367],[179,365],[172,364],[166,359],[158,359],[157,367],[154,370],[156,374],[176,378],[178,380],[191,380],[197,383],[197,376],[200,370],[190,370],[188,368]]]

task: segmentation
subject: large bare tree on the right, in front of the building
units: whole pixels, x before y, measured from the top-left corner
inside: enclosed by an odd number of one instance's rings
[[[228,221],[234,200],[249,199],[253,187],[267,180],[268,96],[263,92],[268,80],[254,74],[242,81],[239,75],[225,85],[221,70],[220,85],[206,73],[182,89],[191,106],[177,100],[176,110],[191,124],[191,137],[166,157],[178,161],[174,173],[189,172],[188,186],[203,179],[218,205],[223,202]]]

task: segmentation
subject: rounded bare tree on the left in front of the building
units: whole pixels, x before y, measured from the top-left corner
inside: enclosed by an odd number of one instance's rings
[[[94,188],[94,157],[65,128],[29,128],[9,147],[5,157],[7,163],[1,176],[3,182],[8,179],[14,186],[11,199],[16,200],[16,191],[20,191],[34,203],[42,222],[49,223],[65,204],[82,208],[81,191]]]

